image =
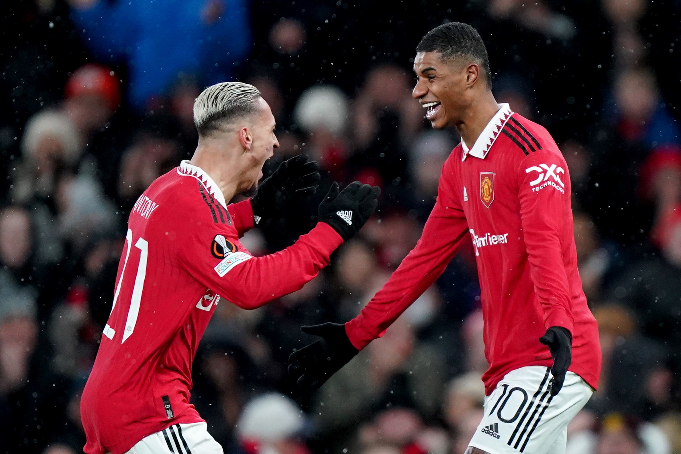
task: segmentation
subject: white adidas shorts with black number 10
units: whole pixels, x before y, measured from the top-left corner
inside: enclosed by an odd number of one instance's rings
[[[574,372],[563,388],[549,393],[550,368],[512,370],[485,398],[485,414],[469,446],[490,454],[564,454],[567,425],[593,389]]]

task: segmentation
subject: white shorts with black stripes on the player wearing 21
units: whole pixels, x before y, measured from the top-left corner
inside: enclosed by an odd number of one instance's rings
[[[175,424],[142,438],[125,454],[223,454],[204,422]]]

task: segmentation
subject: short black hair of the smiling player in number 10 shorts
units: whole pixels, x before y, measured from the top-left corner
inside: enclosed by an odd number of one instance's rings
[[[440,52],[443,61],[460,57],[471,59],[482,67],[487,80],[487,86],[492,86],[492,71],[490,71],[490,57],[482,41],[480,33],[468,24],[462,22],[447,22],[435,27],[424,37],[416,52]]]

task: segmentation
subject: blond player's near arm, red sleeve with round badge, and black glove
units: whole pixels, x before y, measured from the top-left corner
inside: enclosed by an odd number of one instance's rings
[[[177,236],[180,264],[197,281],[229,302],[255,309],[302,288],[329,264],[331,253],[362,228],[373,214],[378,188],[359,182],[338,191],[332,186],[319,205],[321,222],[293,245],[271,255],[253,257],[238,242],[234,225],[210,219],[184,225]],[[353,212],[346,223],[336,212]]]

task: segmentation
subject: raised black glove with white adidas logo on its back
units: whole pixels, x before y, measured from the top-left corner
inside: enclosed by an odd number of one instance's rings
[[[351,182],[338,193],[338,183],[334,182],[319,204],[318,220],[333,227],[343,241],[347,241],[371,217],[380,194],[381,188],[358,181]]]

